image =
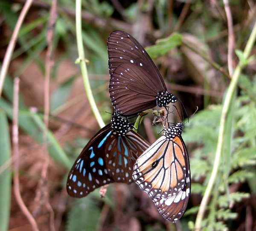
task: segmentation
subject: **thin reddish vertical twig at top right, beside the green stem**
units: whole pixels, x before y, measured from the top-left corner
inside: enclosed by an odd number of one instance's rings
[[[233,28],[233,19],[228,0],[223,0],[225,12],[227,15],[227,29],[228,29],[228,51],[227,51],[227,66],[230,76],[233,75],[233,56],[235,49],[235,34]]]

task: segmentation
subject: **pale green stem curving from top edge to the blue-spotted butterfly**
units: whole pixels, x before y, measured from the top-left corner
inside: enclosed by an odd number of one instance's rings
[[[78,55],[80,60],[80,68],[81,73],[84,81],[84,89],[88,98],[88,101],[90,103],[91,110],[93,111],[93,114],[98,121],[99,127],[104,127],[105,123],[102,120],[102,117],[99,113],[98,107],[96,106],[96,103],[93,98],[93,93],[90,88],[90,82],[87,72],[87,67],[85,63],[84,58],[84,46],[83,46],[83,39],[82,39],[82,23],[81,23],[81,0],[76,0],[76,40],[77,40],[77,49],[78,49]]]

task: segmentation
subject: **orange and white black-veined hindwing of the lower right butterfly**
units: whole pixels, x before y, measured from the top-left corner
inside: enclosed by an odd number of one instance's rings
[[[133,179],[151,198],[172,196],[184,188],[186,158],[179,136],[161,136],[137,159]]]

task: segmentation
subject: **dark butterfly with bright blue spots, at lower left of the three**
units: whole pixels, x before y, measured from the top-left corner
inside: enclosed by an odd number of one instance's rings
[[[128,120],[113,113],[111,123],[93,136],[76,159],[67,178],[67,193],[80,198],[112,182],[130,184],[133,165],[148,147]]]

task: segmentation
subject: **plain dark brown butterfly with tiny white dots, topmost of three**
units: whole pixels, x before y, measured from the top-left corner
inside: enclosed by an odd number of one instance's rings
[[[175,103],[160,72],[140,43],[126,32],[114,31],[108,38],[109,93],[115,110],[130,116]]]

